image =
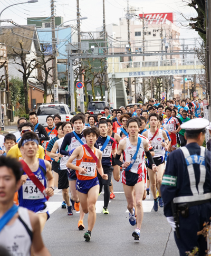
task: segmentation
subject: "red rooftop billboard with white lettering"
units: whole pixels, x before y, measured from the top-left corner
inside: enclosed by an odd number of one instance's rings
[[[142,18],[143,14],[139,14]],[[174,22],[174,13],[145,13],[144,17],[150,24],[164,24],[166,21],[170,21],[171,23]]]

